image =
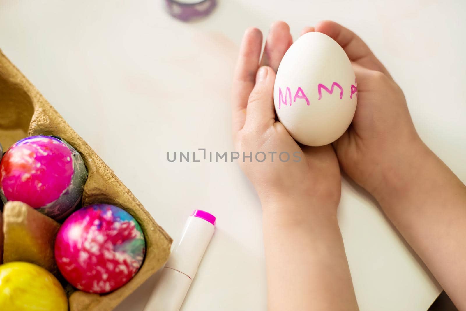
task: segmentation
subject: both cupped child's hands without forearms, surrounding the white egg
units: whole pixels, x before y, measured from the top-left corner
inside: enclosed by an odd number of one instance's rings
[[[298,145],[276,121],[273,102],[275,72],[293,43],[289,27],[284,22],[271,26],[262,59],[262,34],[257,28],[247,29],[233,83],[233,138],[241,166],[262,204],[306,197],[311,203],[331,201],[336,206],[340,198],[338,162],[370,193],[383,195],[384,185],[409,173],[409,159],[425,149],[402,90],[370,48],[333,21],[304,28],[302,34],[310,31],[329,35],[348,55],[356,73],[356,113],[349,129],[333,143],[337,158],[330,145]],[[252,157],[243,158],[242,152]],[[281,152],[286,153],[280,158]]]

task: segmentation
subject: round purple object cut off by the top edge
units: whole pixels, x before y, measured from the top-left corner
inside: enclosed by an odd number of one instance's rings
[[[216,0],[200,0],[198,3],[165,0],[165,3],[170,15],[181,21],[190,21],[194,18],[205,17],[217,5]]]

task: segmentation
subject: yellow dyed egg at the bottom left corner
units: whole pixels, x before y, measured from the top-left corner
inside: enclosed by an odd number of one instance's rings
[[[32,263],[0,265],[0,310],[67,311],[68,299],[58,280]]]

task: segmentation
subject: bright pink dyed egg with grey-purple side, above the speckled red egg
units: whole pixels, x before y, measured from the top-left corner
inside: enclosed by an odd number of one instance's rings
[[[87,170],[79,152],[56,136],[31,136],[12,145],[0,162],[3,202],[22,201],[55,220],[81,200]]]

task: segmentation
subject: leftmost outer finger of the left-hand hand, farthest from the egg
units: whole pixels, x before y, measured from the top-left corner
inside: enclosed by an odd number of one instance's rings
[[[254,88],[261,48],[262,33],[257,28],[248,28],[241,42],[232,86],[233,134],[243,128],[246,120],[247,100]]]

